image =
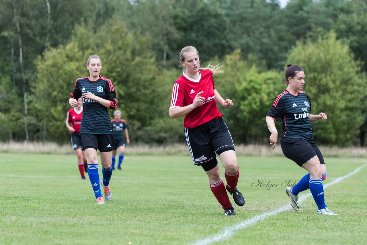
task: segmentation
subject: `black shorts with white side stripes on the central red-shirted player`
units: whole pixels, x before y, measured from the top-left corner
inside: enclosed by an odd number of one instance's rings
[[[235,150],[223,118],[212,119],[193,129],[185,127],[185,136],[195,165],[214,165],[214,162],[217,163],[215,153],[220,155],[222,152]]]

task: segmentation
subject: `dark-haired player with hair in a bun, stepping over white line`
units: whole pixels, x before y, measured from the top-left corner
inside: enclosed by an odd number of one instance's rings
[[[280,145],[283,154],[306,169],[306,174],[294,187],[287,187],[286,193],[290,197],[291,205],[298,211],[298,193],[310,189],[318,210],[317,214],[337,215],[327,208],[324,198],[322,181],[326,178],[324,158],[312,137],[311,123],[319,119],[326,120],[327,116],[321,112],[311,114],[311,101],[302,91],[305,84],[304,69],[298,65],[287,65],[287,89],[279,94],[266,115],[270,135],[270,145],[273,149],[278,140],[275,121],[281,119],[282,133]]]

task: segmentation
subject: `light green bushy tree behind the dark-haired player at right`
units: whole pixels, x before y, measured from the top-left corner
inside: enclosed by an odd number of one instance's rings
[[[288,62],[305,69],[304,91],[311,99],[312,114],[328,115],[326,122],[312,125],[319,144],[346,146],[359,134],[365,118],[366,78],[353,58],[334,32],[315,43],[297,42],[288,56]]]

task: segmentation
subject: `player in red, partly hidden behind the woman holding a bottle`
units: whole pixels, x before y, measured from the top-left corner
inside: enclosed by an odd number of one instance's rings
[[[71,108],[68,113],[66,114],[66,122],[65,125],[71,132],[71,144],[73,149],[75,150],[76,156],[78,158],[78,167],[79,172],[81,175],[81,179],[85,180],[86,176],[84,171],[87,172],[88,165],[87,165],[87,158],[84,151],[81,150],[81,137],[80,137],[80,122],[81,116],[83,115],[83,106],[81,103],[81,98],[79,98],[80,104],[75,107]],[[70,126],[70,123],[72,126]]]

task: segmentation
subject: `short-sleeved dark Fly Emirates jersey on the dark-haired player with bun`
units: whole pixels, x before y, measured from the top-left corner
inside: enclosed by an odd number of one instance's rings
[[[283,131],[280,137],[312,140],[310,114],[311,101],[304,91],[297,91],[297,95],[294,96],[284,90],[275,98],[266,116],[275,121],[281,118]]]

